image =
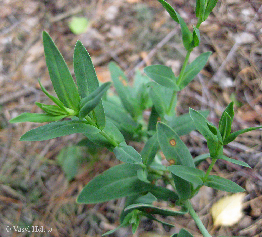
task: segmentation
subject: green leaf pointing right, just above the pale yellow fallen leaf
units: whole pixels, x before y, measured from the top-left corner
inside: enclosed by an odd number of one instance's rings
[[[211,187],[213,189],[226,191],[226,192],[244,192],[245,189],[240,187],[238,184],[232,182],[231,180],[216,176],[209,175],[207,181],[203,185]]]

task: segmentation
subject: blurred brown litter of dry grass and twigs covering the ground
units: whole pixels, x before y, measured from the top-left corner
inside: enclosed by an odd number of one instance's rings
[[[196,23],[194,1],[169,1],[189,26]],[[87,33],[76,36],[67,26],[73,16],[91,19]],[[41,41],[42,30],[55,40],[72,70],[74,45],[78,38],[91,54],[98,77],[108,81],[107,63],[115,60],[130,79],[135,68],[163,63],[179,70],[185,52],[181,50],[179,28],[156,0],[116,1],[2,1],[0,16],[0,236],[101,236],[118,224],[123,200],[97,205],[78,205],[75,199],[82,187],[96,174],[117,164],[106,150],[96,160],[84,164],[77,177],[68,182],[55,156],[64,144],[75,144],[81,135],[70,135],[41,142],[19,142],[19,137],[38,125],[10,124],[22,112],[38,112],[35,101],[50,103],[37,84],[52,91]],[[262,123],[262,9],[259,0],[221,0],[200,27],[202,43],[193,56],[211,50],[208,65],[200,76],[179,95],[177,110],[208,108],[209,119],[218,117],[232,100],[237,101],[233,130]],[[171,32],[171,33],[170,33]],[[170,34],[169,34],[170,33]],[[168,38],[163,40],[166,35]],[[159,43],[160,42],[160,43]],[[158,44],[159,43],[159,44]],[[158,45],[157,45],[158,44]],[[183,137],[190,151],[206,152],[197,132]],[[217,162],[214,174],[228,177],[247,190],[245,216],[232,227],[213,229],[208,209],[224,195],[204,188],[195,200],[195,209],[208,230],[218,236],[262,236],[262,145],[261,130],[239,136],[225,152],[244,160],[253,169]],[[202,168],[207,168],[207,163]],[[199,199],[198,199],[199,198]],[[165,229],[143,221],[134,236],[170,236],[181,227],[201,236],[189,215],[170,218],[176,228]],[[52,233],[9,233],[5,226],[44,226]],[[158,234],[157,234],[158,233]],[[132,236],[129,229],[115,236]]]

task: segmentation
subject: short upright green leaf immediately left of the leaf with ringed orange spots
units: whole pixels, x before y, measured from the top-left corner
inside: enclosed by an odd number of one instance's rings
[[[147,140],[144,148],[140,152],[140,155],[143,160],[143,164],[149,166],[153,162],[158,149],[159,149],[159,144],[157,140],[157,134],[155,133],[152,137],[150,137]]]

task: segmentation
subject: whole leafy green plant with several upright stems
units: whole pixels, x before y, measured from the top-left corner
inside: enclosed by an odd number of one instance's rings
[[[50,95],[40,81],[39,84],[42,91],[56,105],[36,102],[36,105],[46,113],[23,113],[10,122],[51,122],[26,132],[21,136],[21,141],[40,141],[83,133],[87,139],[81,141],[81,145],[107,147],[114,152],[118,160],[125,162],[96,176],[83,188],[77,198],[78,203],[90,204],[127,197],[119,227],[131,224],[134,233],[141,216],[173,226],[157,220],[153,214],[177,216],[189,212],[203,236],[210,237],[192,208],[190,199],[203,185],[227,192],[244,191],[242,187],[228,179],[210,175],[210,171],[217,159],[250,167],[245,162],[224,156],[223,146],[233,141],[239,134],[262,126],[231,133],[233,102],[222,113],[218,128],[205,118],[208,111],[190,108],[189,113],[176,116],[177,92],[188,85],[202,70],[211,54],[211,52],[202,53],[188,64],[191,51],[200,43],[198,28],[217,1],[197,0],[198,21],[197,25],[193,26],[193,33],[167,2],[158,1],[181,26],[182,41],[187,53],[179,76],[175,76],[167,66],[152,65],[144,68],[148,77],[138,72],[131,87],[123,71],[112,62],[109,64],[109,70],[118,96],[110,97],[106,91],[111,83],[99,86],[91,58],[82,43],[77,41],[74,50],[77,88],[58,48],[44,31],[46,63],[58,98]],[[146,122],[142,115],[143,111],[149,108],[151,115]],[[71,119],[59,121],[63,118]],[[193,158],[180,136],[195,128],[207,140],[209,153]],[[138,153],[132,146],[127,145],[126,140],[145,141],[144,148]],[[170,166],[163,166],[159,161],[159,149]],[[197,166],[207,157],[211,157],[212,162],[204,172]],[[160,179],[166,184],[171,184],[174,191],[160,186],[158,184]],[[173,211],[152,205],[156,200],[169,201],[181,209]],[[113,231],[115,230],[104,235]],[[172,236],[192,237],[185,229]]]

